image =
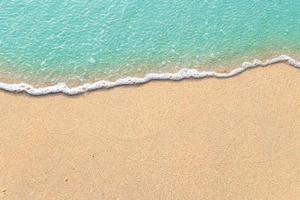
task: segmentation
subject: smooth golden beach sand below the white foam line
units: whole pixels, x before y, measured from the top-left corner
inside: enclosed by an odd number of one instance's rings
[[[0,199],[299,199],[300,71],[0,92]]]

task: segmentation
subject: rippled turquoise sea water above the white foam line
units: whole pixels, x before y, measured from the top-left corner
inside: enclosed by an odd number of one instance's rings
[[[87,82],[295,55],[299,10],[295,0],[1,0],[0,71]]]

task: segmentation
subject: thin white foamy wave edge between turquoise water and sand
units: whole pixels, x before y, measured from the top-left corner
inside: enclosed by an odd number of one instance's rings
[[[300,62],[287,56],[281,55],[266,62],[260,60],[254,60],[253,62],[244,62],[241,67],[235,68],[228,73],[219,73],[215,71],[198,71],[196,69],[187,69],[183,68],[176,73],[149,73],[142,78],[138,77],[126,77],[121,78],[116,81],[106,81],[100,80],[94,83],[85,83],[77,87],[68,87],[66,83],[58,83],[56,85],[47,86],[47,87],[34,87],[26,83],[19,84],[8,84],[0,82],[0,89],[7,92],[20,93],[24,92],[32,96],[42,96],[48,94],[62,93],[65,95],[77,95],[85,92],[99,90],[99,89],[109,89],[118,86],[125,85],[137,85],[148,83],[153,80],[170,80],[170,81],[179,81],[183,79],[203,79],[203,78],[230,78],[241,74],[242,72],[247,71],[251,68],[256,67],[266,67],[275,63],[287,63],[292,67],[300,69]]]

